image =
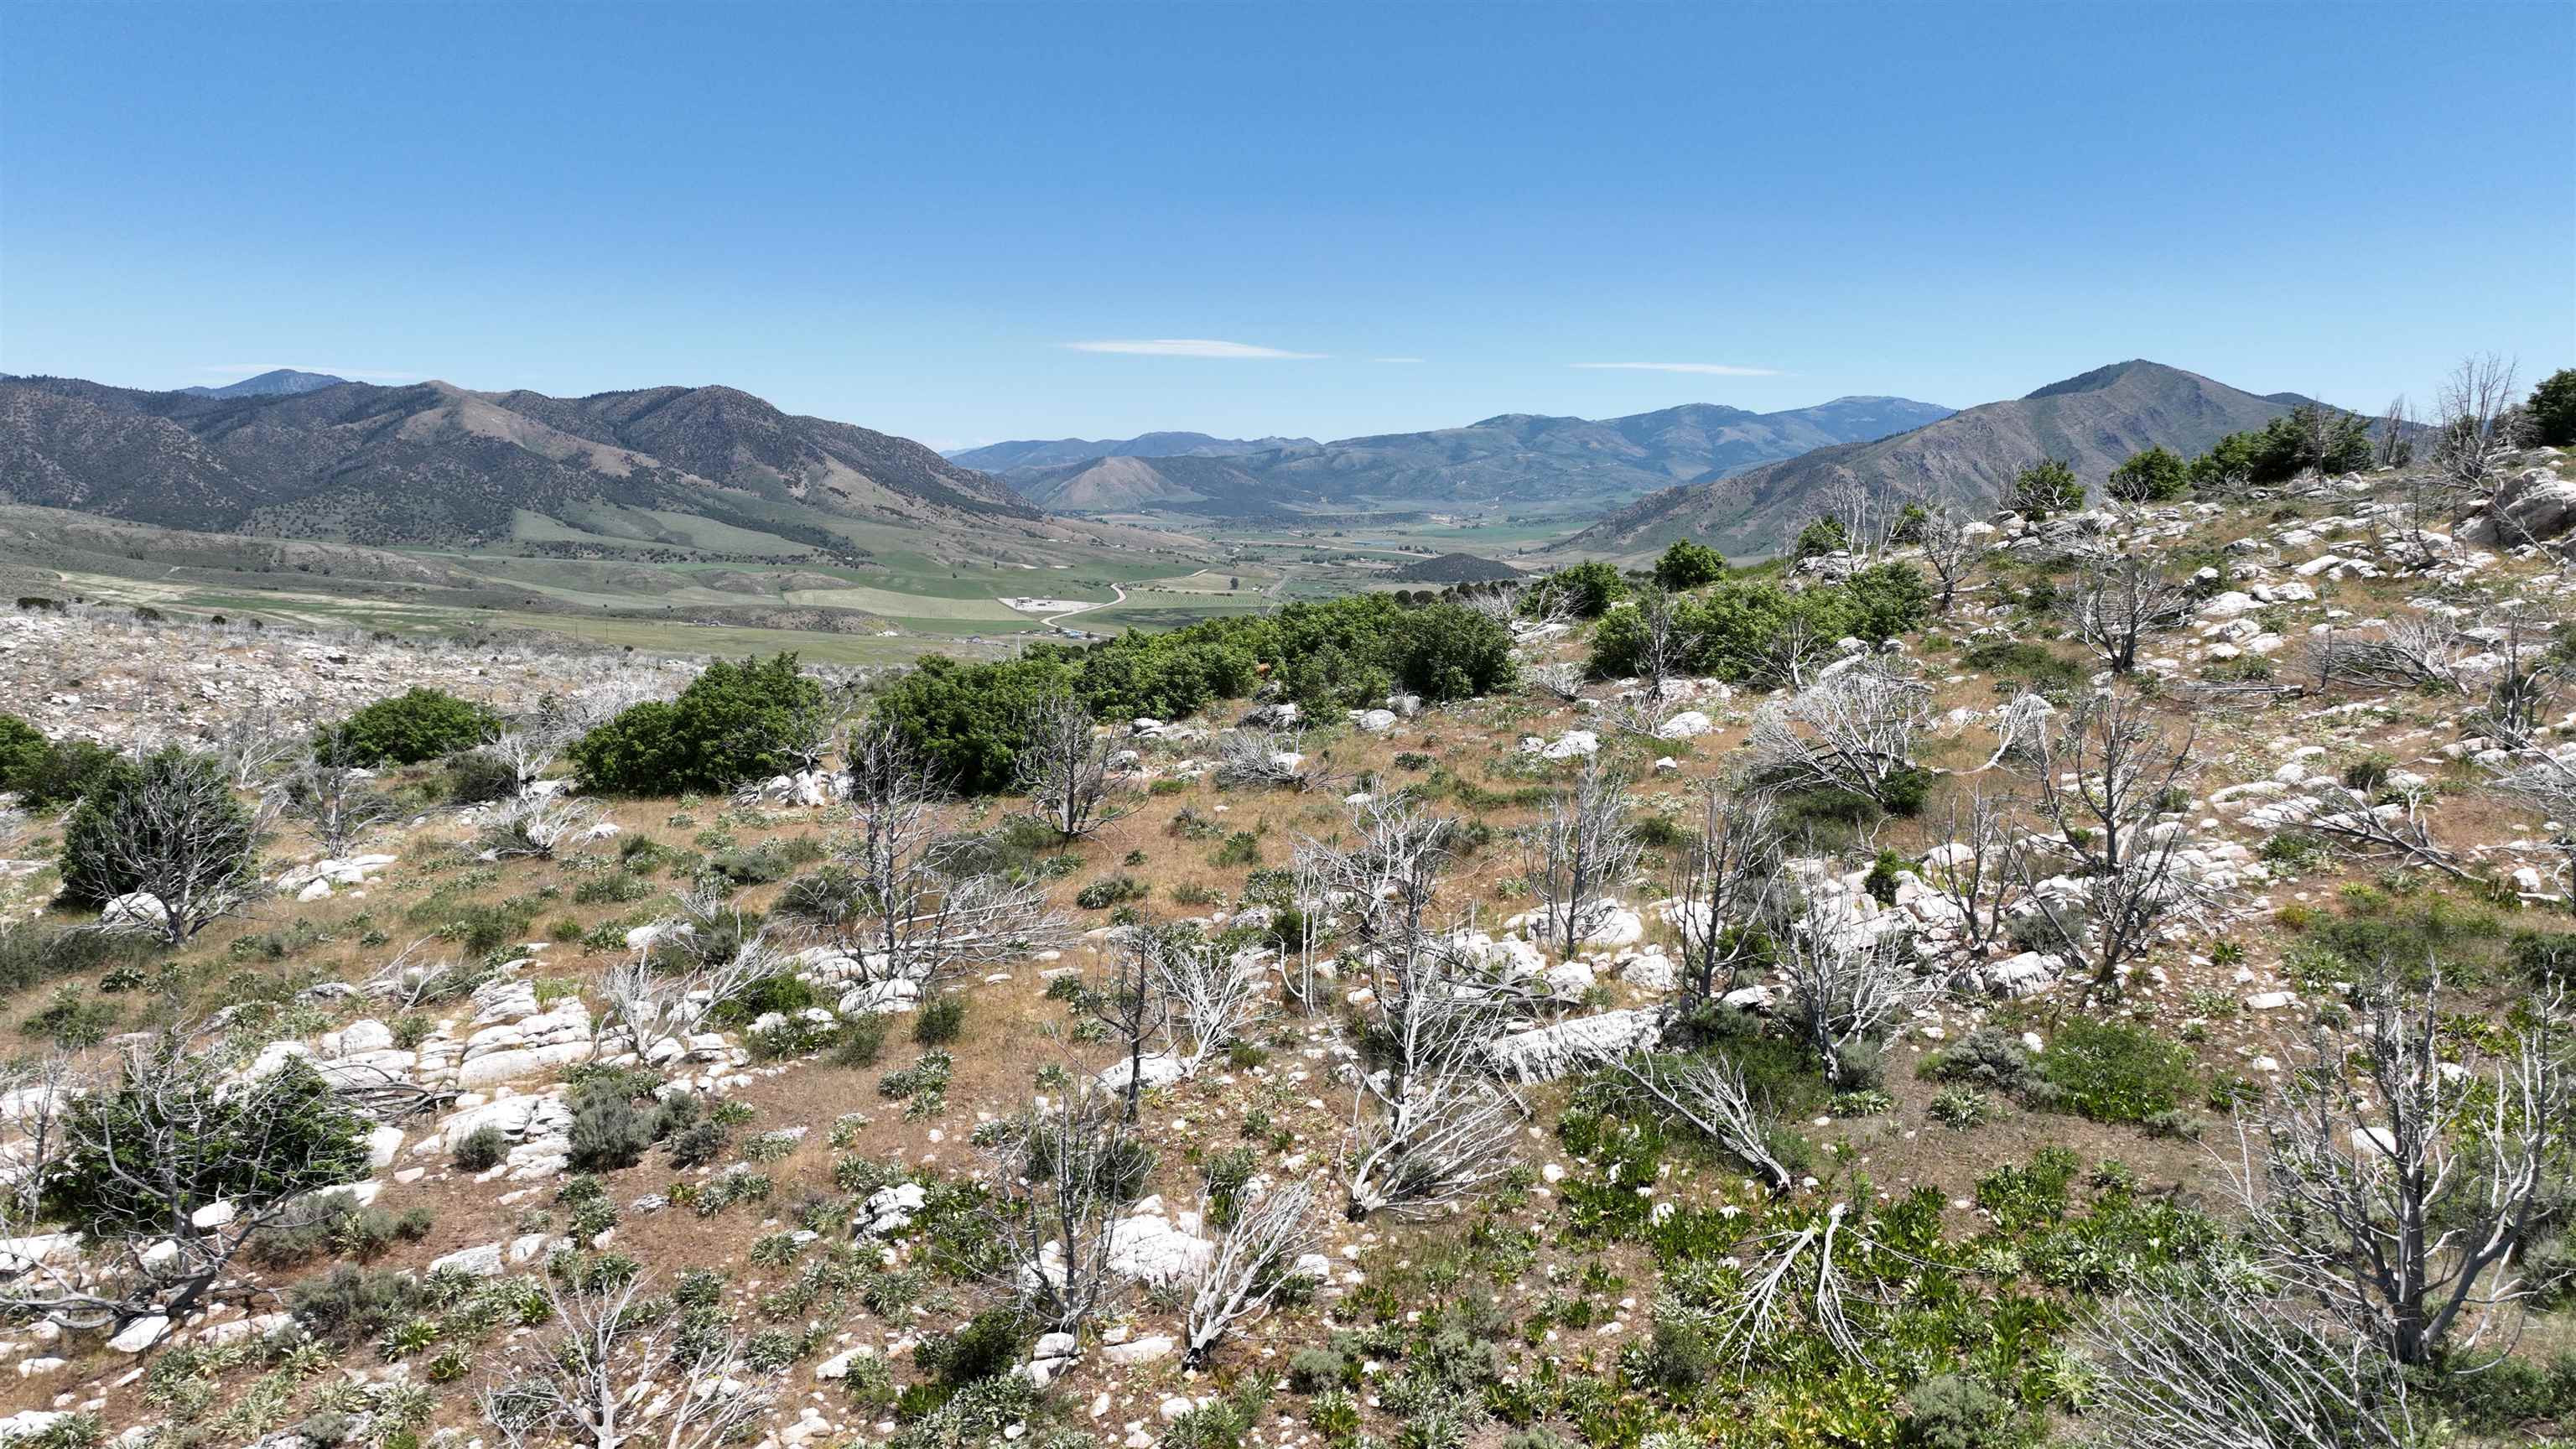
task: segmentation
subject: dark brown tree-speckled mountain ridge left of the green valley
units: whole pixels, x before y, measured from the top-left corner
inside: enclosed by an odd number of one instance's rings
[[[920,443],[732,387],[546,397],[448,382],[227,397],[0,376],[0,503],[358,544],[489,541],[528,516],[654,539],[688,516],[848,549],[835,521],[1041,518]]]

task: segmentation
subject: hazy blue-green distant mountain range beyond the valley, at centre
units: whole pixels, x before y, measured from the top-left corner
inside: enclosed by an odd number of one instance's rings
[[[1837,397],[1785,413],[1687,402],[1628,418],[1504,413],[1466,428],[1285,443],[1249,454],[1108,454],[1005,467],[1002,480],[1072,513],[1260,516],[1365,500],[1618,500],[1723,477],[1832,443],[1883,438],[1950,410],[1904,397]],[[963,456],[963,454],[961,454]]]

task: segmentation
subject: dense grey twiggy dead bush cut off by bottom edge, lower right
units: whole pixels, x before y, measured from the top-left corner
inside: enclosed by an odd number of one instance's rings
[[[2130,1294],[2087,1325],[2084,1418],[2133,1449],[2414,1449],[2406,1377],[2329,1318],[2239,1297]]]

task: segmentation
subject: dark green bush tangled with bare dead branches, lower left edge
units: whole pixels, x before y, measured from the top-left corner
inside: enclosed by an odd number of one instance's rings
[[[129,1044],[113,1078],[39,1070],[10,1106],[0,1310],[67,1328],[173,1320],[229,1292],[234,1263],[307,1194],[368,1173],[374,1127],[301,1060],[224,1080],[185,1031]],[[49,1222],[54,1214],[64,1222]],[[28,1250],[49,1227],[85,1253]]]

